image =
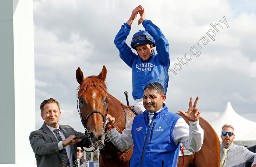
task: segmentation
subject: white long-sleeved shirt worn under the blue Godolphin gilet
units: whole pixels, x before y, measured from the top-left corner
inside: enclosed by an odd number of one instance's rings
[[[156,112],[160,112],[162,109]],[[148,114],[154,114],[148,112]],[[110,141],[119,149],[123,150],[133,145],[132,138],[132,124],[133,119],[127,125],[126,129],[120,134],[116,128],[108,131]],[[173,130],[173,140],[177,145],[178,142],[182,143],[190,152],[198,152],[201,149],[204,140],[204,130],[197,122],[189,121],[190,126],[183,118],[179,118]]]

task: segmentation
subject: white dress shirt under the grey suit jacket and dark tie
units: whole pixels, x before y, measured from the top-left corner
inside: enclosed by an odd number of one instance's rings
[[[54,132],[55,128],[53,128],[53,127],[51,127],[51,126],[48,126],[48,125],[46,125],[46,126],[52,131],[52,133],[54,134],[55,138],[56,138],[57,141],[58,141],[58,137],[57,137],[56,133]],[[60,130],[59,124],[58,124],[58,127],[57,127],[56,129],[59,129],[59,135],[61,136],[62,140],[66,140],[67,138],[66,138],[65,134]],[[58,150],[60,151],[60,150],[62,150],[63,148],[64,148],[64,147],[62,146],[62,141],[60,141],[60,142],[58,143]],[[70,145],[67,145],[67,146],[66,146],[66,152],[67,152],[67,155],[68,155],[68,158],[69,158],[69,163],[70,163],[71,166],[73,166],[73,161],[72,161],[73,153],[71,152],[71,147],[70,147]]]

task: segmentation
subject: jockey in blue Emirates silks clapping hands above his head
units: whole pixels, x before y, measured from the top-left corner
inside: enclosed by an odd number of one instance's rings
[[[137,51],[133,53],[126,44],[126,38],[130,33],[133,20],[140,14],[138,24],[142,23],[145,30],[133,35],[131,47]],[[162,31],[150,20],[145,19],[145,9],[139,5],[135,8],[130,19],[123,24],[116,35],[114,43],[119,50],[120,58],[132,69],[133,99],[135,100],[134,111],[140,114],[145,111],[143,106],[143,89],[150,82],[159,82],[163,85],[165,94],[169,76],[161,77],[168,72],[170,66],[169,43]],[[156,46],[158,54],[153,48]]]

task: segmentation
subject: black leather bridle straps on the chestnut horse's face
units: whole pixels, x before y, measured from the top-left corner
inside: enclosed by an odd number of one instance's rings
[[[108,100],[107,100],[107,97],[105,98],[105,102],[106,102],[106,115],[105,115],[105,117],[104,117],[104,115],[103,115],[100,111],[94,110],[94,111],[90,112],[90,113],[86,116],[86,118],[84,118],[84,115],[83,115],[83,113],[81,112],[80,103],[78,103],[78,100],[79,100],[79,98],[77,99],[76,107],[77,107],[77,111],[78,111],[78,113],[79,113],[79,115],[80,115],[82,124],[83,124],[84,129],[85,129],[84,134],[87,135],[88,138],[90,138],[90,132],[88,131],[86,124],[87,124],[88,118],[91,116],[91,114],[94,114],[94,113],[99,113],[99,114],[101,114],[101,116],[102,116],[102,118],[103,118],[103,129],[105,130],[106,125],[107,125],[108,120],[109,120],[109,118],[107,117],[107,114],[108,114]],[[78,109],[78,108],[79,108],[79,109]]]

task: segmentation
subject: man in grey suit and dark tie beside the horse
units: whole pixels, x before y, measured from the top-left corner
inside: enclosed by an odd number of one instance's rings
[[[60,125],[61,111],[55,99],[44,100],[41,105],[43,126],[30,133],[30,145],[38,167],[77,167],[76,147],[91,147],[87,136],[74,140],[83,133],[69,125]]]

